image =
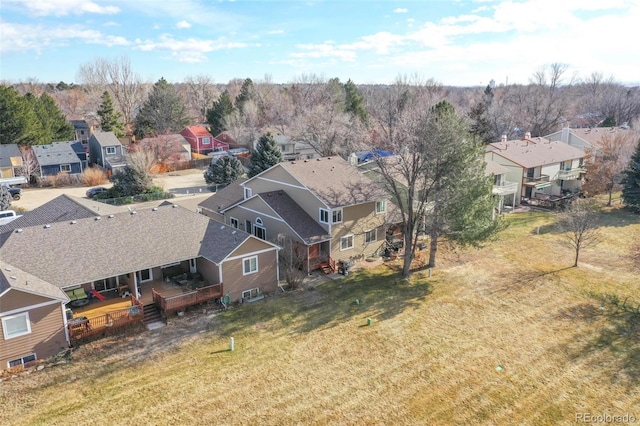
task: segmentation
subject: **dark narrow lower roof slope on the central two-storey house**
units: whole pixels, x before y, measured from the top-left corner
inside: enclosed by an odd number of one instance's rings
[[[311,244],[323,239],[331,239],[322,226],[296,204],[285,191],[265,192],[259,194],[259,197],[305,242]]]

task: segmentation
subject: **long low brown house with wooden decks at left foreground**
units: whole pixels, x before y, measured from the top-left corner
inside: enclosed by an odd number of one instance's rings
[[[103,243],[96,244],[96,236]],[[30,247],[28,256],[24,247]],[[140,295],[164,281],[167,270],[179,268],[198,274],[206,285],[217,285],[219,298],[246,301],[278,289],[278,250],[272,243],[175,205],[0,234],[0,320],[10,330],[0,336],[0,368],[19,358],[49,357],[69,345],[69,335],[63,338],[61,333],[69,329],[62,314],[71,290],[107,293],[125,288]],[[18,287],[20,291],[13,291]],[[32,293],[39,298],[25,296],[32,288],[38,289]],[[50,309],[47,315],[44,306]],[[17,334],[11,335],[11,330]]]

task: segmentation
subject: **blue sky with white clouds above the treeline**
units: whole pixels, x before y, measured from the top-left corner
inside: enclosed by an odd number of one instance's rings
[[[637,0],[0,0],[0,80],[78,82],[81,65],[127,57],[144,81],[207,75],[448,86],[640,82]]]

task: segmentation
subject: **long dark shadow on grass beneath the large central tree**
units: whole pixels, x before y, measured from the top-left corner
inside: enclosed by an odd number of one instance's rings
[[[259,328],[308,333],[360,317],[363,322],[367,317],[383,321],[419,306],[431,293],[426,279],[405,280],[381,268],[220,312],[210,329],[230,336],[268,324]]]

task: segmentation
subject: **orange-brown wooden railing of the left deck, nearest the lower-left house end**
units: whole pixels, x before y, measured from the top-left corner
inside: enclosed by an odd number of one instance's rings
[[[142,303],[133,296],[131,306],[124,309],[109,311],[96,317],[80,317],[69,320],[69,337],[71,342],[77,342],[87,337],[104,335],[114,332],[124,326],[144,319],[144,307]]]

